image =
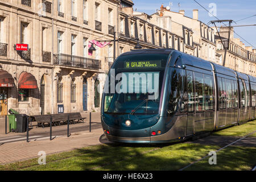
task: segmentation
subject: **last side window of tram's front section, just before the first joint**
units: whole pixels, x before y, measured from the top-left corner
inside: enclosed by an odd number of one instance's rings
[[[212,110],[214,104],[213,77],[204,74],[205,110]]]

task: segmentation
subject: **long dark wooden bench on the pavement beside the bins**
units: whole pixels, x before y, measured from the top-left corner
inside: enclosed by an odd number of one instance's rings
[[[34,115],[31,116],[31,121],[35,121],[38,123],[38,126],[44,127],[44,124],[47,123],[48,126],[50,125],[51,122],[51,117],[52,117],[52,125],[56,126],[58,124],[60,126],[60,122],[63,122],[63,124],[67,123],[68,121],[68,115],[69,115],[69,121],[70,123],[77,121],[82,121],[84,123],[85,117],[82,117],[80,113],[61,113],[61,114],[45,114],[45,115]]]

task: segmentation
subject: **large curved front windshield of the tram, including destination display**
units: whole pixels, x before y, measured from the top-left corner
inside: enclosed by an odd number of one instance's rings
[[[106,114],[158,114],[168,55],[121,56],[104,88]]]

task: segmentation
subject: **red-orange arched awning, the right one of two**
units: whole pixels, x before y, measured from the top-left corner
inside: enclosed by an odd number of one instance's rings
[[[23,72],[19,77],[19,89],[37,89],[38,84],[31,73]]]

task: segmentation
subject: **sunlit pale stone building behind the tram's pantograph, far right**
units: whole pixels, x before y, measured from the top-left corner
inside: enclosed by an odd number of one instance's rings
[[[228,39],[229,27],[220,27],[219,32],[222,41]],[[225,49],[222,46],[221,39],[216,33],[216,52],[221,55],[221,59],[217,63],[222,65]],[[225,67],[229,67],[235,71],[246,73],[251,76],[256,76],[256,49],[253,49],[252,47],[246,47],[239,38],[234,38],[233,27],[230,31],[230,43],[229,49],[226,52]]]

